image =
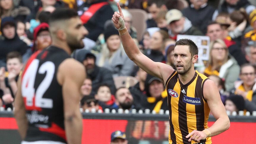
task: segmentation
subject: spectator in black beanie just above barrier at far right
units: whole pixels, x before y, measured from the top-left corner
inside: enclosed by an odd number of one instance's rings
[[[240,95],[231,94],[225,101],[225,108],[231,113],[244,110],[244,98]]]

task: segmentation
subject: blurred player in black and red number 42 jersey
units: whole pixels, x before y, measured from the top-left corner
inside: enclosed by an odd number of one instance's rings
[[[58,9],[49,20],[52,45],[34,53],[18,81],[14,115],[22,144],[80,144],[80,88],[86,73],[70,55],[83,48],[86,29],[77,12]]]

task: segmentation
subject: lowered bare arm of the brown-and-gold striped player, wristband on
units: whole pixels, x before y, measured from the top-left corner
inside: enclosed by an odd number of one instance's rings
[[[220,99],[219,90],[212,80],[205,81],[203,86],[203,95],[216,121],[208,129],[203,131],[192,131],[187,135],[187,138],[192,135],[189,141],[194,140],[199,142],[202,139],[206,139],[206,137],[218,135],[230,127],[230,121]]]

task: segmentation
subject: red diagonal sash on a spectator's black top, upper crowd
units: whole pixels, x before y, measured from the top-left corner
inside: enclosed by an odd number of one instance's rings
[[[81,15],[80,19],[83,23],[87,23],[90,20],[90,18],[95,14],[95,12],[97,12],[101,7],[105,6],[106,4],[108,4],[108,2],[100,2],[91,5],[89,9],[85,11],[83,15]]]

